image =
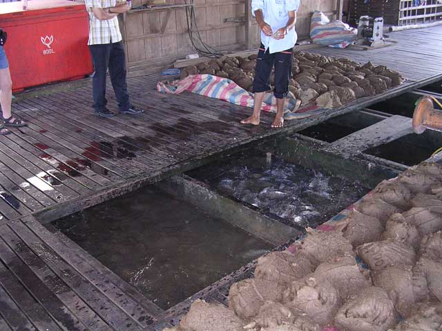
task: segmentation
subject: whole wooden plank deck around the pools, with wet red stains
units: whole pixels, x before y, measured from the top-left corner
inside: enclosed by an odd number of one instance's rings
[[[289,121],[280,130],[271,130],[271,114],[259,127],[241,126],[251,109],[189,93],[159,94],[159,75],[128,79],[131,101],[145,111],[137,117],[93,116],[88,80],[74,90],[14,103],[13,111],[28,127],[0,137],[0,329],[146,330],[160,317],[171,317],[41,222],[191,168],[229,148],[301,130],[442,79],[442,27],[396,32],[392,38],[395,46],[378,50],[314,52],[384,64],[404,74],[403,86]],[[110,85],[108,108],[117,109]]]

